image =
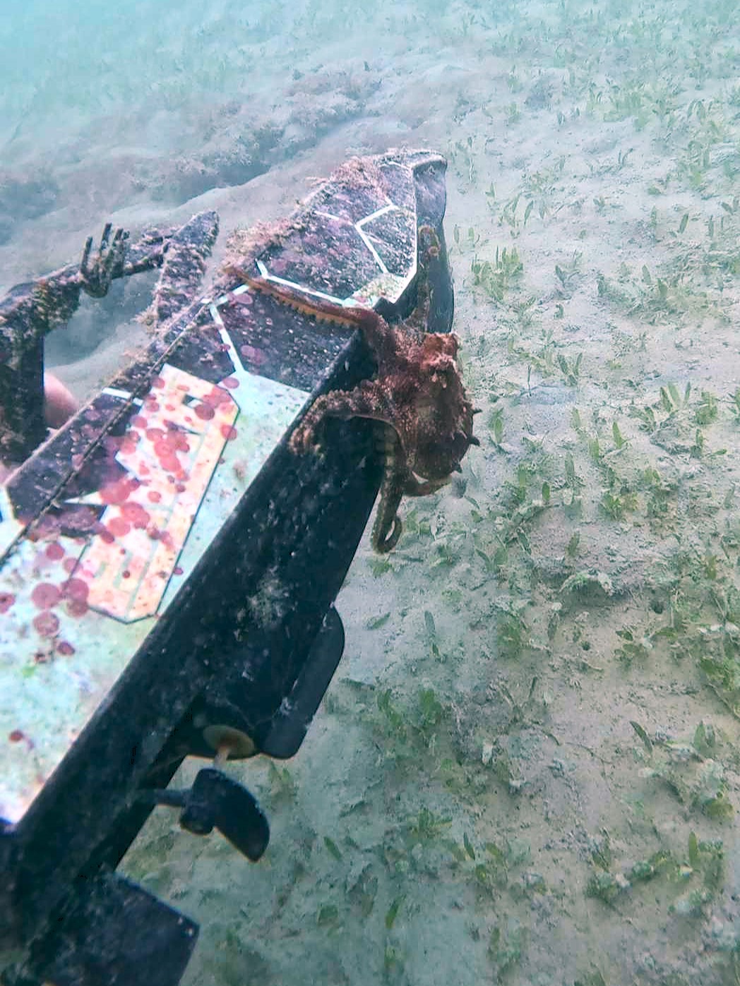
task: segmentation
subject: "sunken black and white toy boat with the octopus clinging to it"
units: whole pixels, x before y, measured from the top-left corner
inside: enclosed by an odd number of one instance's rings
[[[107,229],[0,302],[0,442],[20,462],[0,485],[8,986],[180,982],[196,926],[115,872],[155,806],[263,852],[224,764],[296,752],[378,489],[388,549],[401,496],[475,443],[445,336],[444,172],[427,152],[349,162],[290,220],[237,235],[206,296],[214,213],[135,243]],[[148,348],[44,438],[44,333],[82,291],[155,266]],[[168,789],[188,755],[215,762]]]

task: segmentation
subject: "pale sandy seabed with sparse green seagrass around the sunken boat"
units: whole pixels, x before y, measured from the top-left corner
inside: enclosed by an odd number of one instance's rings
[[[54,153],[50,96],[6,106],[4,282],[108,218],[247,225],[434,147],[482,408],[462,475],[363,542],[299,754],[230,767],[264,859],[166,810],[126,857],[201,924],[185,983],[735,986],[740,9],[161,6]],[[95,318],[55,343],[80,392],[130,339]]]

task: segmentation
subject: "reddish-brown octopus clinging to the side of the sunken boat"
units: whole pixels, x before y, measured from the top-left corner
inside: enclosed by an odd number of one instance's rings
[[[315,448],[317,429],[326,417],[371,418],[387,426],[371,541],[376,551],[390,551],[401,536],[397,511],[402,498],[439,489],[452,472],[460,471],[470,446],[480,444],[473,434],[475,410],[456,362],[460,340],[453,333],[419,333],[408,323],[391,326],[372,309],[309,299],[259,277],[245,280],[306,315],[362,331],[378,363],[376,379],[317,397],[293,432],[290,447],[296,453]]]

